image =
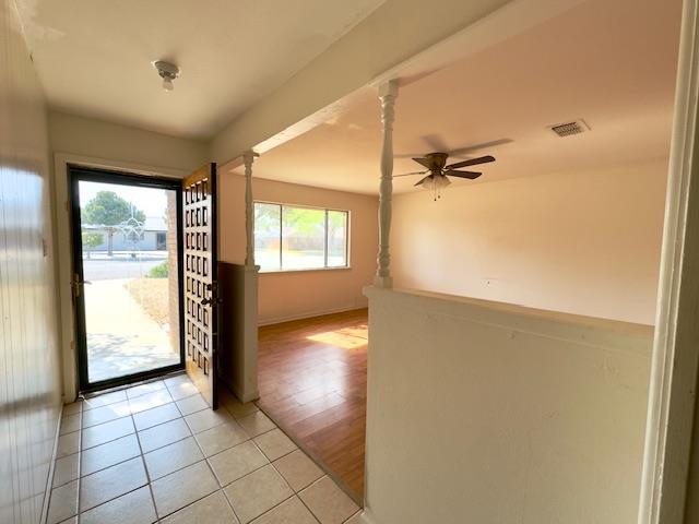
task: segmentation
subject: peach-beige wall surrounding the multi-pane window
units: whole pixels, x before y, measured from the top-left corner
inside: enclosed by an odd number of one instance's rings
[[[259,162],[263,162],[263,158]],[[245,262],[245,179],[221,174],[220,258]],[[342,191],[253,179],[253,198],[270,202],[333,207],[351,212],[350,270],[261,273],[260,323],[366,307],[362,287],[370,284],[376,270],[378,199]]]

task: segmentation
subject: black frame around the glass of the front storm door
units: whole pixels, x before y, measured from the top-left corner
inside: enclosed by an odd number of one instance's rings
[[[142,175],[133,175],[123,171],[109,171],[106,169],[94,169],[82,166],[68,166],[68,177],[70,182],[70,210],[71,210],[71,239],[73,255],[73,275],[78,282],[73,283],[73,289],[78,289],[81,294],[76,297],[73,294],[73,308],[75,312],[75,341],[78,357],[78,377],[79,390],[81,393],[87,393],[97,390],[105,390],[118,385],[125,385],[138,382],[173,371],[185,369],[185,307],[182,300],[183,293],[183,242],[181,235],[182,224],[182,182],[174,178],[145,177]],[[121,186],[135,186],[141,188],[156,188],[174,190],[177,200],[177,288],[179,301],[179,364],[166,366],[149,371],[141,371],[114,379],[90,382],[87,374],[87,334],[85,324],[85,301],[84,301],[84,273],[83,273],[83,250],[81,236],[81,216],[80,216],[80,192],[79,182],[106,182]]]

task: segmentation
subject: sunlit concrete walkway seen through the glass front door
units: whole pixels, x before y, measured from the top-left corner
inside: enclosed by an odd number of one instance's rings
[[[179,348],[129,295],[129,278],[85,285],[87,369],[91,382],[179,362]]]

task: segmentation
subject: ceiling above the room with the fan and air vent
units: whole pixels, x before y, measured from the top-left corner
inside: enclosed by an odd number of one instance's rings
[[[485,51],[401,88],[394,151],[417,156],[511,142],[478,183],[641,162],[668,154],[680,0],[588,0]],[[332,121],[262,155],[254,176],[376,193],[380,122],[376,91],[355,94]],[[548,126],[582,118],[592,131],[557,138]],[[394,172],[414,171],[396,158]],[[396,192],[419,178],[394,180]]]

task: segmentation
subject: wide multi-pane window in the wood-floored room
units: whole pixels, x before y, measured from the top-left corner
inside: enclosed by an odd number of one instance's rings
[[[262,271],[346,267],[350,213],[254,203],[254,261]]]

